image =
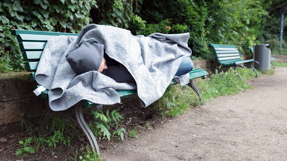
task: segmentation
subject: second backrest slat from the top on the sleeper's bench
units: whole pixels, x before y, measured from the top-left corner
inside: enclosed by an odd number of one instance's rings
[[[20,42],[47,42],[48,39],[55,37],[55,35],[32,35],[32,34],[18,34],[17,40]]]

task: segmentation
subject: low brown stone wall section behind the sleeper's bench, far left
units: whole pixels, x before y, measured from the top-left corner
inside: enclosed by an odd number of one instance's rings
[[[28,72],[0,74],[0,125],[40,116],[44,100],[36,97]]]

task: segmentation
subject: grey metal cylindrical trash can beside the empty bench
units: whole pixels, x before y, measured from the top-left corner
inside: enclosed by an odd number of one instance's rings
[[[254,60],[259,63],[255,63],[255,69],[270,69],[270,58],[271,58],[271,50],[268,48],[269,44],[259,44],[254,45]]]

